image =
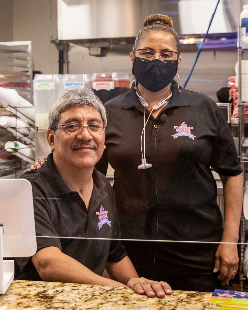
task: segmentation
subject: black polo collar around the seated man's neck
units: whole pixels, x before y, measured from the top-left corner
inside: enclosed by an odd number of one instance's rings
[[[46,179],[55,196],[63,196],[69,193],[73,193],[64,183],[64,180],[58,173],[53,161],[53,153],[48,155],[47,163],[42,167],[41,170],[39,170],[39,172]],[[103,192],[106,183],[100,178],[95,168],[92,173],[92,178],[94,184]]]

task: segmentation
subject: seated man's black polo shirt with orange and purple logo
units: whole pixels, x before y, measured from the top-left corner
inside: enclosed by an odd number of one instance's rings
[[[41,170],[31,170],[21,176],[32,184],[36,235],[46,236],[37,237],[37,251],[56,246],[102,275],[106,263],[121,260],[126,250],[121,241],[77,239],[120,237],[111,185],[95,169],[92,177],[94,187],[87,211],[78,192],[72,192],[61,179],[52,154]],[[49,238],[51,236],[58,238]],[[30,257],[16,258],[16,262],[23,274],[21,279],[40,280]]]

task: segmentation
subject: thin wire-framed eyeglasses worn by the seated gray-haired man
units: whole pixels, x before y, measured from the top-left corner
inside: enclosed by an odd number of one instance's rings
[[[101,122],[90,122],[88,125],[82,125],[79,122],[68,122],[63,125],[58,125],[56,128],[64,127],[64,132],[67,135],[80,135],[83,127],[86,127],[90,135],[102,135],[108,127]]]

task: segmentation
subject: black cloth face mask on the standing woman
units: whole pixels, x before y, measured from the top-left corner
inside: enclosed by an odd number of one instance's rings
[[[178,60],[166,64],[159,59],[143,61],[135,57],[132,73],[136,80],[148,91],[161,91],[169,85],[177,73]]]

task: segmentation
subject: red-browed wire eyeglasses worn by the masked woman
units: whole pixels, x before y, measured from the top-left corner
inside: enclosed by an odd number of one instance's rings
[[[159,59],[166,63],[171,64],[174,60],[178,59],[178,52],[175,51],[162,51],[162,52],[154,52],[147,48],[139,48],[135,53],[139,54],[139,58],[143,61],[151,61],[155,58],[155,54],[159,54]]]

